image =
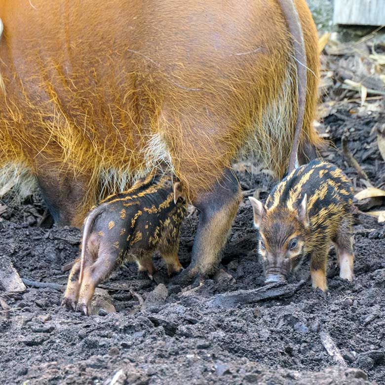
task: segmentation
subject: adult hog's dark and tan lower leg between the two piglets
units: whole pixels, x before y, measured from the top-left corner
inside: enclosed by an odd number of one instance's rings
[[[224,248],[237,212],[241,194],[238,181],[230,169],[210,189],[192,200],[199,210],[199,225],[192,247],[192,260],[187,269],[174,277],[174,284],[189,284],[195,277],[213,273]]]

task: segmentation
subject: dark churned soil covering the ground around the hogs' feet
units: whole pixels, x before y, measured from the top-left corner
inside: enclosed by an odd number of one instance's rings
[[[348,148],[376,186],[385,180],[385,162],[371,131],[383,119],[352,117],[346,106],[325,119],[337,148],[344,130],[349,131]],[[323,155],[361,186],[340,151]],[[245,168],[237,171],[243,190],[260,189],[265,199],[269,177],[251,176]],[[8,207],[0,222],[0,258],[10,258],[22,278],[65,284],[68,272],[62,267],[77,257],[80,232],[40,228],[42,213],[39,200]],[[117,312],[100,310],[89,317],[62,308],[62,292],[55,289],[28,287],[22,294],[4,294],[12,310],[8,319],[0,313],[0,384],[384,384],[385,231],[370,217],[360,215],[358,221],[355,280],[339,278],[332,251],[329,295],[311,288],[304,266],[288,288],[301,279],[305,283],[282,298],[213,306],[214,295],[256,289],[264,281],[246,197],[220,266],[236,282],[209,279],[197,288],[168,290],[160,285],[155,294],[167,296],[164,301],[152,293],[157,284],[129,265],[105,283],[124,289],[108,291]],[[183,226],[184,266],[196,224],[194,213]],[[159,281],[165,268],[159,259],[156,266]],[[128,289],[147,298],[142,309]],[[346,367],[328,354],[322,332],[334,340]]]

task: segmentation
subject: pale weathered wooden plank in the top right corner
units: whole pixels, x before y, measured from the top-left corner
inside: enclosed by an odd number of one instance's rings
[[[334,0],[334,24],[385,25],[385,0]]]

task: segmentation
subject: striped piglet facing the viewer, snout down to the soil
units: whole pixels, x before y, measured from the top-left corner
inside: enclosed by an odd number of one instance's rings
[[[339,168],[314,160],[278,183],[265,206],[249,197],[266,283],[286,280],[309,257],[313,287],[326,292],[331,243],[340,277],[353,279],[352,196],[353,187]]]

